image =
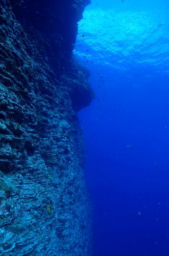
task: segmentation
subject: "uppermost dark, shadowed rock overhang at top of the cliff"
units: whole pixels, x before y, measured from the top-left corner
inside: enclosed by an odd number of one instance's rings
[[[77,22],[82,18],[83,10],[90,2],[91,0],[10,1],[13,12],[21,24],[36,28],[50,42],[52,41],[50,48],[53,55],[51,57],[48,54],[48,57],[54,66],[70,59],[76,41]],[[56,59],[59,62],[55,62]]]

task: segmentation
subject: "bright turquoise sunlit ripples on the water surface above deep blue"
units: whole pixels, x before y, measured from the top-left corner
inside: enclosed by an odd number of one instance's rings
[[[168,72],[169,26],[165,20],[159,24],[157,15],[147,12],[101,9],[85,11],[83,17],[75,48],[79,56],[89,48],[88,59],[95,63],[120,69],[126,69],[126,63],[148,64]]]

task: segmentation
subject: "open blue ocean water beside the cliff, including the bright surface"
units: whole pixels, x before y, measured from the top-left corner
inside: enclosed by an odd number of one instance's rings
[[[75,55],[96,98],[79,112],[94,255],[169,255],[169,5],[92,1]]]

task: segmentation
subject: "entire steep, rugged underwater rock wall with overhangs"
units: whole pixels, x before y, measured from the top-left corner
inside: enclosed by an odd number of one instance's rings
[[[86,0],[0,2],[0,254],[91,255],[72,57]]]

